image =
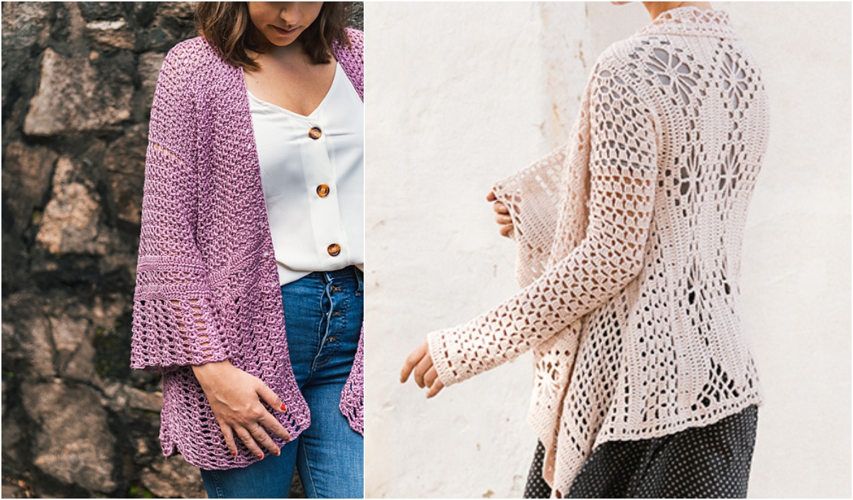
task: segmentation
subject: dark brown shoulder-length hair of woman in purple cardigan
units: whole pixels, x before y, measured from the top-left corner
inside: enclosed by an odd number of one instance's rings
[[[334,40],[351,45],[345,31],[350,9],[351,2],[324,2],[316,20],[299,35],[305,54],[315,64],[331,60]],[[246,2],[196,2],[195,29],[231,65],[260,69],[246,49],[263,54],[264,35],[252,24]]]

